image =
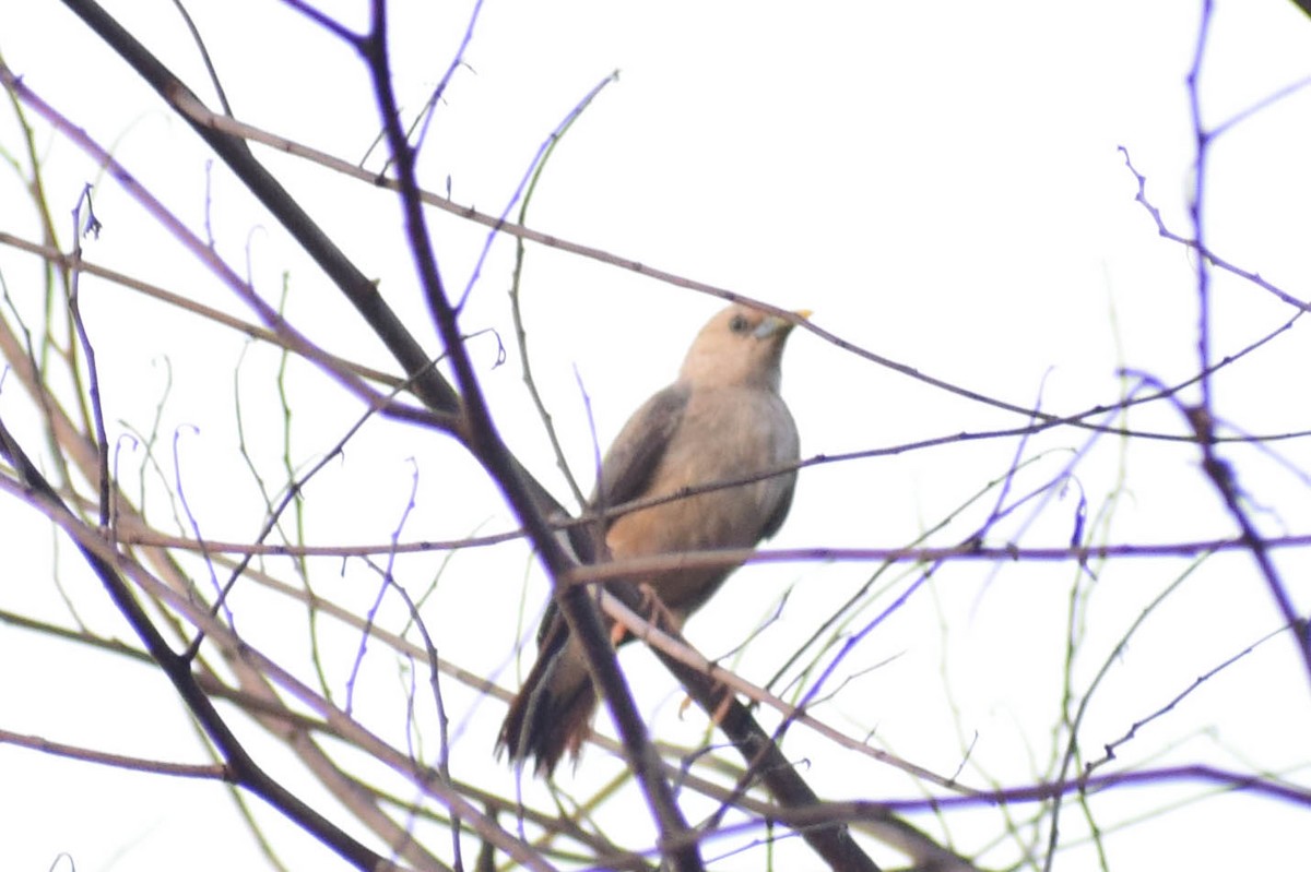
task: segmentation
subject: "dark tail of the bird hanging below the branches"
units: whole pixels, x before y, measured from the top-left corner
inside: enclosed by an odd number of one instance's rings
[[[538,775],[551,775],[565,752],[578,757],[597,710],[597,691],[582,651],[568,632],[558,635],[562,638],[557,636],[556,644],[541,644],[497,738],[498,757],[502,750],[515,763],[531,757]]]

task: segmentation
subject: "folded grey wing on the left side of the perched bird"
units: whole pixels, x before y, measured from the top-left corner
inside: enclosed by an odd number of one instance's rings
[[[633,412],[600,463],[593,507],[621,505],[646,492],[683,420],[688,393],[686,385],[670,385]]]

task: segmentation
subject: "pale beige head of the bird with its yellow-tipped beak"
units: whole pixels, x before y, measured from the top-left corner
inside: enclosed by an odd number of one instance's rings
[[[810,313],[794,314],[806,318]],[[697,388],[777,390],[783,346],[793,326],[777,316],[734,304],[718,312],[696,334],[678,378]]]

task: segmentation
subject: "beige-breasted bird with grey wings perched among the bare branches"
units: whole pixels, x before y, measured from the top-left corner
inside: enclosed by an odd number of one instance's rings
[[[678,380],[648,399],[615,439],[591,508],[751,479],[794,463],[797,427],[779,395],[779,364],[792,326],[743,305],[711,318]],[[794,483],[796,473],[787,471],[620,515],[606,525],[604,542],[615,559],[753,547],[779,530]],[[682,568],[631,580],[648,584],[682,628],[734,568]],[[538,774],[549,775],[566,750],[578,755],[595,708],[581,645],[552,605],[538,631],[538,661],[501,727],[498,753],[509,750],[514,762],[532,757]]]

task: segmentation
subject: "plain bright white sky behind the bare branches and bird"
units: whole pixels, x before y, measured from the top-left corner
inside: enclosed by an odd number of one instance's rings
[[[358,14],[363,4],[337,5]],[[397,90],[413,111],[450,63],[469,7],[393,5]],[[172,4],[108,7],[215,105]],[[346,47],[274,3],[210,0],[189,10],[240,119],[349,161],[362,157],[378,120],[363,67]],[[1158,238],[1133,202],[1135,183],[1117,147],[1126,147],[1148,177],[1148,195],[1169,227],[1186,236],[1193,151],[1184,77],[1198,17],[1194,3],[1127,0],[1078,8],[1040,1],[802,7],[488,0],[465,55],[469,68],[455,75],[429,134],[422,179],[442,191],[450,178],[458,202],[499,212],[549,131],[619,69],[619,80],[552,157],[530,213],[532,227],[777,305],[813,309],[819,327],[944,381],[1021,406],[1041,393],[1046,410],[1074,412],[1114,402],[1121,367],[1164,382],[1197,369],[1193,270],[1179,246]],[[1308,39],[1311,21],[1287,0],[1218,3],[1202,75],[1205,119],[1219,123],[1311,75]],[[203,234],[206,152],[60,4],[0,5],[0,54]],[[1206,177],[1211,249],[1302,299],[1311,296],[1308,117],[1307,90],[1264,109],[1217,140]],[[0,113],[0,148],[17,156],[18,141],[7,109]],[[38,128],[38,143],[56,219],[68,215],[85,182],[100,182],[94,203],[105,230],[88,244],[88,258],[241,312],[71,144],[45,127]],[[256,153],[361,268],[380,280],[388,302],[435,351],[393,199],[267,149]],[[484,230],[435,211],[431,221],[447,285],[464,288]],[[363,331],[336,289],[218,165],[212,228],[219,253],[239,272],[246,271],[249,240],[250,270],[265,299],[277,301],[281,276],[290,271],[288,313],[312,338],[337,354],[388,365],[375,342],[355,339]],[[12,172],[0,174],[0,230],[39,234]],[[60,232],[67,245],[67,229]],[[461,322],[467,330],[494,327],[506,343],[514,335],[505,295],[511,257],[511,241],[497,241]],[[41,288],[37,263],[0,247],[0,270],[18,305],[33,306],[31,295]],[[121,422],[148,427],[166,359],[173,393],[161,432],[172,435],[186,424],[199,431],[181,439],[193,508],[207,536],[249,538],[261,504],[233,450],[232,369],[245,350],[244,412],[258,428],[277,410],[269,381],[275,355],[246,348],[240,336],[197,329],[193,317],[168,313],[119,288],[88,282],[84,291],[88,326],[108,373],[111,436],[125,432]],[[579,382],[598,436],[608,441],[637,403],[673,376],[688,339],[718,305],[615,267],[530,249],[524,310],[532,363],[576,469],[586,470],[593,452]],[[1291,314],[1259,288],[1217,276],[1217,356],[1236,352]],[[517,357],[493,369],[494,343],[479,339],[472,348],[503,436],[564,496],[549,448],[524,403]],[[1217,414],[1252,433],[1308,429],[1301,402],[1311,363],[1306,348],[1294,327],[1217,377]],[[292,371],[291,385],[303,405],[292,453],[308,465],[359,410],[307,367]],[[785,360],[784,394],[802,431],[805,456],[1023,423],[800,333]],[[1185,395],[1185,402],[1193,401],[1196,393]],[[7,423],[26,422],[10,426],[33,439],[30,418],[24,418],[29,414],[18,390],[5,385],[0,415]],[[1164,405],[1135,411],[1130,423],[1183,428]],[[1034,439],[1027,457],[1049,453],[1017,478],[1016,491],[1046,482],[1075,460],[1071,452],[1084,440],[1082,431]],[[1302,475],[1311,469],[1304,441],[1273,445]],[[278,458],[277,445],[256,450],[270,463]],[[771,547],[905,545],[1003,475],[1016,450],[1013,440],[992,440],[808,469],[792,517]],[[1304,481],[1255,449],[1224,454],[1235,462],[1262,532],[1307,532],[1311,488]],[[402,538],[458,538],[479,525],[490,532],[511,524],[494,494],[444,441],[388,424],[366,428],[347,448],[346,461],[315,481],[311,541],[385,541],[405,505],[410,458],[420,470],[420,492]],[[125,456],[123,463],[135,466],[140,457]],[[1121,474],[1129,483],[1101,539],[1232,534],[1194,449],[1125,446],[1104,437],[1078,460],[1078,488],[1044,508],[1024,532],[1021,511],[990,543],[1004,543],[1008,536],[1024,546],[1067,543],[1078,491],[1096,513]],[[587,487],[586,474],[583,479]],[[933,541],[958,541],[992,499]],[[7,542],[7,564],[16,570],[0,584],[0,609],[68,621],[49,581],[51,541],[49,526],[30,511],[0,500],[0,542]],[[79,610],[102,631],[126,635],[104,594],[76,567],[76,555],[62,547],[59,560],[73,580]],[[439,560],[437,555],[404,564],[417,589]],[[1278,564],[1304,610],[1311,601],[1304,554],[1281,553]],[[429,615],[442,634],[443,656],[471,668],[503,666],[502,683],[517,685],[515,668],[506,664],[526,630],[506,615],[517,608],[530,566],[518,546],[455,559],[451,581]],[[1076,669],[1082,681],[1185,566],[1122,560],[1105,567],[1086,615],[1087,659]],[[371,584],[359,567],[338,580],[340,568],[324,563],[321,583]],[[711,656],[722,653],[794,583],[784,621],[738,664],[742,674],[764,682],[781,663],[773,652],[806,638],[868,573],[868,566],[855,564],[747,568],[690,625],[690,639]],[[821,714],[852,735],[877,728],[876,744],[944,774],[960,763],[960,736],[969,742],[977,733],[971,759],[999,783],[1025,783],[1050,755],[1075,576],[1063,563],[1002,567],[995,575],[982,564],[944,568],[932,592],[912,597],[853,655],[848,669],[894,660]],[[897,590],[914,573],[890,577],[901,579]],[[535,610],[544,596],[544,581],[532,575],[527,608]],[[270,653],[302,651],[296,632],[303,618],[295,610],[260,611],[253,608],[258,600],[249,602],[252,611],[239,617],[239,630]],[[944,622],[947,643],[940,638]],[[296,630],[288,632],[288,626]],[[1251,556],[1214,559],[1121,652],[1084,725],[1084,748],[1096,755],[1093,749],[1277,626]],[[353,651],[347,640],[343,664],[336,666],[349,669]],[[105,663],[3,623],[0,659],[10,664],[0,670],[0,729],[128,754],[203,759],[170,690],[144,669]],[[678,719],[671,680],[640,652],[625,653],[624,664],[646,690],[638,702],[654,714],[661,735],[696,742],[704,720]],[[395,665],[374,669],[378,704],[385,706],[397,682]],[[511,790],[510,774],[490,769],[490,731],[502,708],[459,694],[452,699],[463,706],[455,716],[458,774],[496,779],[493,787]],[[1270,770],[1306,784],[1308,699],[1308,677],[1294,645],[1280,638],[1209,681],[1121,753],[1126,765]],[[374,714],[379,723],[388,715],[396,719],[385,708]],[[257,754],[278,759],[257,731],[248,738]],[[825,796],[919,795],[909,779],[834,755],[805,731],[794,729],[785,749],[810,759],[806,776]],[[271,765],[278,771],[284,763]],[[578,783],[599,782],[616,767],[594,749]],[[60,851],[71,854],[81,872],[264,864],[231,800],[212,784],[123,774],[4,745],[0,783],[7,786],[0,788],[0,868],[43,869]],[[1113,824],[1206,790],[1196,783],[1154,784],[1099,797],[1096,808]],[[615,813],[623,808],[616,805]],[[1072,807],[1066,809],[1071,833],[1079,831],[1076,817]],[[330,854],[282,827],[277,817],[264,818],[287,855],[304,863],[300,868],[338,868]],[[1108,839],[1109,865],[1281,868],[1303,851],[1306,820],[1306,809],[1269,799],[1209,796],[1116,831]],[[978,851],[986,834],[999,830],[998,821],[978,810],[952,818],[952,833],[962,850]],[[939,831],[931,817],[916,822]],[[981,863],[1002,863],[1008,850],[1013,846],[998,847]],[[796,856],[810,855],[798,848]],[[749,868],[755,860],[759,855],[746,854],[737,859],[741,867],[724,868]],[[1089,850],[1071,848],[1057,868],[1095,863]]]

